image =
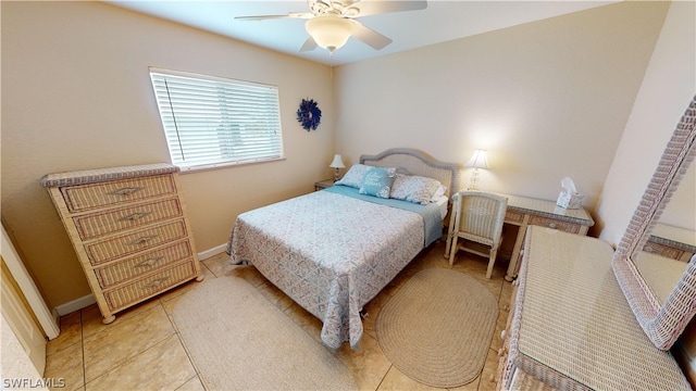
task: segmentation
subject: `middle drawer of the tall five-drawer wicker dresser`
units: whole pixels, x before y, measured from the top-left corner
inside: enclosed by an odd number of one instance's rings
[[[86,244],[85,251],[89,262],[92,265],[99,265],[176,239],[183,239],[187,235],[184,219],[178,219],[161,226]]]

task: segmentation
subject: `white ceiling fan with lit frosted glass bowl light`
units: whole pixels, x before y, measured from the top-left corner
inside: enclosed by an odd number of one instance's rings
[[[286,15],[236,16],[243,21],[273,18],[303,18],[309,38],[299,51],[310,51],[316,46],[333,54],[351,36],[375,50],[391,43],[391,39],[356,21],[357,17],[401,11],[423,10],[427,1],[419,0],[308,0],[309,12],[290,12]]]

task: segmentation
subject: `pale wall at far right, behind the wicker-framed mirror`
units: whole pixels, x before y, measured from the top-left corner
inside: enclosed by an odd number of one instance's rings
[[[601,238],[618,243],[679,119],[696,93],[696,3],[670,7],[611,165],[598,215]],[[696,229],[696,169],[680,186],[664,222]]]

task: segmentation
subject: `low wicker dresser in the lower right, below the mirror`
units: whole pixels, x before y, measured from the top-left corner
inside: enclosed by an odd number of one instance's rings
[[[643,332],[609,243],[543,227],[530,227],[525,240],[498,389],[691,389],[671,354]]]

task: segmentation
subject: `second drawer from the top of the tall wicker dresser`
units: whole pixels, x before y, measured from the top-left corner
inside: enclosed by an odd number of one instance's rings
[[[182,216],[178,199],[169,199],[74,217],[84,240]]]

